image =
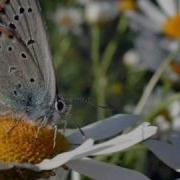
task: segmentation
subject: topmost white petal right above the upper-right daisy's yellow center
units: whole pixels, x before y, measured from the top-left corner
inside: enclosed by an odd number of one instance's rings
[[[168,16],[177,14],[175,0],[157,0],[157,2]]]

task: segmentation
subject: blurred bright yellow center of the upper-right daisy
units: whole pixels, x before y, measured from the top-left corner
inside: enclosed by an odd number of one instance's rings
[[[163,26],[163,32],[170,38],[180,38],[180,14],[167,19]]]

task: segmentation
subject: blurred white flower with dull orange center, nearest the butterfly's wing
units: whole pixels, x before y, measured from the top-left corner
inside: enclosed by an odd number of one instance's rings
[[[55,22],[60,31],[79,34],[83,23],[83,14],[80,8],[60,7],[55,13]]]

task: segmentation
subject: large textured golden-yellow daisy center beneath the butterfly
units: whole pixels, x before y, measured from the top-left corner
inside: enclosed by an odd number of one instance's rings
[[[4,163],[36,164],[43,159],[65,152],[69,143],[61,133],[17,115],[0,116],[0,161]]]

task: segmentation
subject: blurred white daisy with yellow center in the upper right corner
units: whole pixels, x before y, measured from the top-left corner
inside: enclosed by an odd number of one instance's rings
[[[138,0],[140,12],[131,11],[126,15],[136,24],[137,29],[162,34],[166,39],[167,49],[176,51],[180,40],[180,2],[179,0],[156,0],[155,5],[149,0]]]

